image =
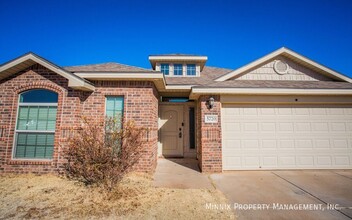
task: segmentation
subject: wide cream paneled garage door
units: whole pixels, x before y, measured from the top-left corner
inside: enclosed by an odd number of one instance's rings
[[[224,170],[352,168],[352,106],[222,108]]]

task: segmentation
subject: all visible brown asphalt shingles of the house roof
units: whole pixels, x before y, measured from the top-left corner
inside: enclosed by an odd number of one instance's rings
[[[124,72],[159,73],[152,69],[129,66],[119,63],[101,63],[64,67],[69,72]],[[167,85],[193,85],[202,88],[287,88],[287,89],[352,89],[352,83],[337,81],[280,81],[280,80],[227,80],[215,79],[233,70],[205,66],[200,77],[165,76]]]

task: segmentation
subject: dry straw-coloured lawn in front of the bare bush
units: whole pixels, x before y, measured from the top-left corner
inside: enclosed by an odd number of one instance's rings
[[[234,219],[216,190],[165,189],[146,174],[124,178],[112,192],[55,175],[0,176],[0,219]]]

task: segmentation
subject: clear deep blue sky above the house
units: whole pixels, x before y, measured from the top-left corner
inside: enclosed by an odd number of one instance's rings
[[[351,0],[0,0],[0,63],[33,51],[60,66],[208,56],[235,69],[286,46],[352,76]]]

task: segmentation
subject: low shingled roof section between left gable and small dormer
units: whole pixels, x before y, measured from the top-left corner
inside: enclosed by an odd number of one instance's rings
[[[91,65],[80,65],[80,66],[66,66],[64,67],[70,72],[123,72],[123,73],[157,73],[151,69],[145,69],[136,66],[129,66],[125,64],[110,62],[100,63]]]

